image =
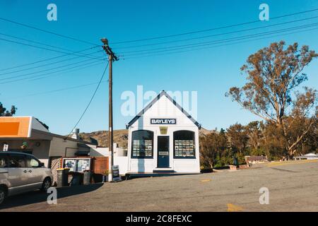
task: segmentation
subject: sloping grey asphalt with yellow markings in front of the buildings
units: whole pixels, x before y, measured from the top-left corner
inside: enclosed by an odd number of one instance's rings
[[[269,189],[269,204],[259,189]],[[318,211],[318,160],[249,169],[58,189],[57,204],[33,191],[8,198],[0,211]]]

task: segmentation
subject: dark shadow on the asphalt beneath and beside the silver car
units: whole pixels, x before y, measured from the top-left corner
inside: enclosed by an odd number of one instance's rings
[[[90,184],[86,186],[66,186],[57,188],[57,198],[65,198],[69,196],[76,196],[79,194],[85,194],[91,191],[95,191],[103,186],[100,184]],[[28,193],[20,194],[17,196],[11,196],[6,199],[0,206],[1,209],[13,208],[16,206],[24,206],[34,203],[41,203],[47,201],[49,194],[41,191],[30,191]]]

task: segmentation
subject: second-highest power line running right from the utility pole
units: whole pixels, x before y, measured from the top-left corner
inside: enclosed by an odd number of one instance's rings
[[[270,27],[273,27],[273,26],[285,25],[285,24],[288,24],[288,23],[296,23],[296,22],[300,22],[300,21],[303,21],[303,20],[311,20],[311,19],[314,19],[314,18],[318,18],[318,16],[314,16],[314,17],[310,17],[310,18],[303,18],[303,19],[300,19],[300,20],[291,20],[291,21],[288,21],[288,22],[276,23],[276,24],[273,24],[273,25],[265,25],[265,26],[261,26],[261,27],[257,27],[257,28],[248,28],[248,29],[236,30],[236,31],[232,31],[232,32],[218,33],[218,34],[214,34],[214,35],[205,35],[205,36],[200,36],[200,37],[191,37],[191,38],[182,39],[182,40],[171,40],[171,41],[167,41],[167,42],[156,42],[156,43],[151,43],[151,44],[140,44],[140,45],[134,45],[134,46],[128,46],[128,47],[118,47],[116,49],[131,49],[131,48],[138,48],[138,47],[154,46],[154,45],[159,45],[159,44],[168,44],[168,43],[173,43],[173,42],[186,42],[186,41],[190,41],[190,40],[204,39],[206,37],[216,37],[216,36],[220,36],[220,35],[230,35],[230,34],[234,34],[234,33],[237,33],[237,32],[245,32],[245,31],[249,31],[249,30],[270,28]],[[122,54],[122,53],[119,52],[119,54]]]

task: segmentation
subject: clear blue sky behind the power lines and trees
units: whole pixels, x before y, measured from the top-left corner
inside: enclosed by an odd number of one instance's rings
[[[47,20],[47,5],[54,3],[57,5],[57,21]],[[126,40],[139,40],[148,37],[163,35],[173,35],[196,30],[218,28],[225,25],[245,23],[258,20],[259,5],[269,4],[270,18],[299,11],[307,11],[318,8],[317,1],[0,1],[0,17],[14,20],[19,23],[33,25],[62,35],[76,37],[88,42],[100,43],[100,37],[107,37],[110,43],[122,42]],[[277,20],[262,21],[259,23],[242,25],[234,28],[213,30],[194,35],[184,35],[182,37],[170,37],[162,40],[151,40],[143,42],[111,44],[114,52],[127,52],[132,50],[153,49],[158,47],[170,47],[182,44],[192,44],[196,42],[206,42],[213,40],[239,37],[241,35],[251,35],[259,32],[269,32],[273,30],[290,28],[298,25],[317,23],[318,18],[304,20],[298,23],[290,23],[271,28],[251,30],[230,35],[220,35],[218,37],[208,37],[202,40],[192,40],[188,42],[176,42],[162,44],[158,46],[138,47],[131,49],[119,49],[137,44],[151,44],[155,42],[165,42],[179,40],[183,38],[199,37],[202,35],[215,35],[223,32],[232,32],[259,26],[283,23],[290,20],[310,18],[318,16],[318,11],[304,13],[298,16],[290,16]],[[317,28],[317,27],[314,27]],[[6,35],[14,35],[36,42],[42,42],[56,47],[79,51],[92,47],[90,44],[76,42],[45,32],[40,32],[20,25],[4,22],[0,20],[0,32]],[[272,35],[275,36],[275,35]],[[143,90],[171,91],[197,91],[198,92],[198,121],[206,129],[226,128],[231,124],[240,122],[247,124],[249,121],[259,119],[253,114],[241,109],[236,102],[225,97],[225,92],[232,86],[241,86],[245,83],[245,77],[240,75],[240,67],[245,63],[247,57],[257,52],[258,49],[268,46],[271,42],[285,40],[288,44],[298,42],[308,44],[311,49],[318,50],[318,30],[298,32],[290,35],[268,37],[262,40],[249,40],[238,44],[223,45],[209,49],[169,54],[161,52],[157,56],[140,54],[140,58],[129,59],[129,56],[114,63],[114,129],[124,129],[133,117],[124,117],[120,112],[120,107],[124,100],[120,96],[126,90],[136,93],[137,85],[143,85]],[[16,40],[12,37],[0,35],[0,38]],[[28,42],[25,42],[28,43]],[[50,47],[49,47],[50,48]],[[5,42],[0,40],[0,74],[18,69],[28,69],[40,64],[20,67],[1,71],[13,66],[28,64],[33,61],[60,56],[61,53],[50,52],[45,49],[37,49],[20,44]],[[91,50],[95,52],[98,49]],[[87,52],[88,53],[88,52]],[[165,53],[165,54],[163,54]],[[129,53],[128,53],[129,54]],[[102,52],[95,56],[103,57]],[[138,55],[137,55],[138,56]],[[134,57],[137,57],[134,56]],[[143,57],[141,57],[143,56]],[[73,56],[74,57],[74,56]],[[64,57],[61,59],[71,58]],[[60,59],[60,60],[61,60]],[[52,66],[47,65],[38,69],[30,69],[18,73],[10,73],[0,76],[1,79],[11,76],[19,76],[25,73],[35,73],[37,71],[54,69],[65,64],[85,61],[86,58],[64,61]],[[57,61],[57,60],[55,60]],[[93,60],[92,60],[93,61]],[[88,62],[92,62],[88,61]],[[54,62],[48,61],[48,62]],[[47,61],[46,61],[47,63]],[[87,63],[87,62],[86,62]],[[305,69],[309,80],[304,83],[313,88],[318,88],[318,61]],[[45,64],[45,62],[41,63]],[[78,63],[73,66],[85,64]],[[70,66],[71,67],[71,66]],[[35,116],[49,125],[50,131],[54,133],[69,133],[76,123],[81,113],[85,109],[95,90],[105,64],[87,67],[81,70],[64,71],[52,73],[45,78],[38,80],[25,79],[12,83],[0,84],[0,102],[6,107],[16,105],[18,107],[17,116]],[[63,67],[61,69],[64,69]],[[46,71],[43,73],[47,73]],[[35,73],[32,76],[41,75]],[[31,75],[30,75],[31,76]],[[108,76],[108,75],[107,75]],[[27,78],[28,76],[22,76]],[[6,79],[5,81],[11,81]],[[2,83],[2,82],[0,82]],[[72,90],[63,90],[49,93],[52,90],[70,88],[78,85],[86,85]],[[41,94],[40,94],[41,93]],[[78,128],[81,131],[97,131],[107,129],[107,83],[102,83],[95,96],[88,112],[83,117]]]

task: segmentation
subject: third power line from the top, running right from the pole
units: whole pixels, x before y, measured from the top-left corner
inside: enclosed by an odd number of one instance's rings
[[[208,42],[197,42],[197,43],[194,43],[194,44],[182,44],[182,45],[177,45],[177,46],[160,47],[160,48],[155,48],[155,49],[136,50],[134,52],[139,52],[139,53],[126,54],[125,56],[134,56],[134,55],[139,55],[139,54],[147,54],[147,53],[155,53],[155,52],[165,52],[165,51],[167,51],[166,49],[168,49],[168,50],[176,50],[176,49],[184,49],[184,48],[190,48],[190,47],[208,46],[208,45],[211,45],[211,44],[229,42],[231,40],[242,40],[242,39],[248,39],[248,38],[251,38],[251,37],[257,37],[257,36],[262,36],[262,35],[271,35],[273,33],[286,32],[286,31],[290,31],[290,30],[298,30],[298,29],[308,28],[308,27],[312,27],[312,26],[316,26],[316,25],[318,25],[318,23],[311,23],[311,24],[308,24],[308,25],[301,25],[301,26],[296,26],[296,27],[293,27],[293,28],[284,28],[284,29],[280,29],[280,30],[274,30],[274,31],[271,31],[271,32],[260,32],[260,33],[251,34],[251,35],[243,35],[243,36],[239,36],[239,37],[231,37],[231,38],[227,38],[227,39],[213,40],[213,41],[208,41]],[[142,52],[145,52],[145,53],[142,53]]]

